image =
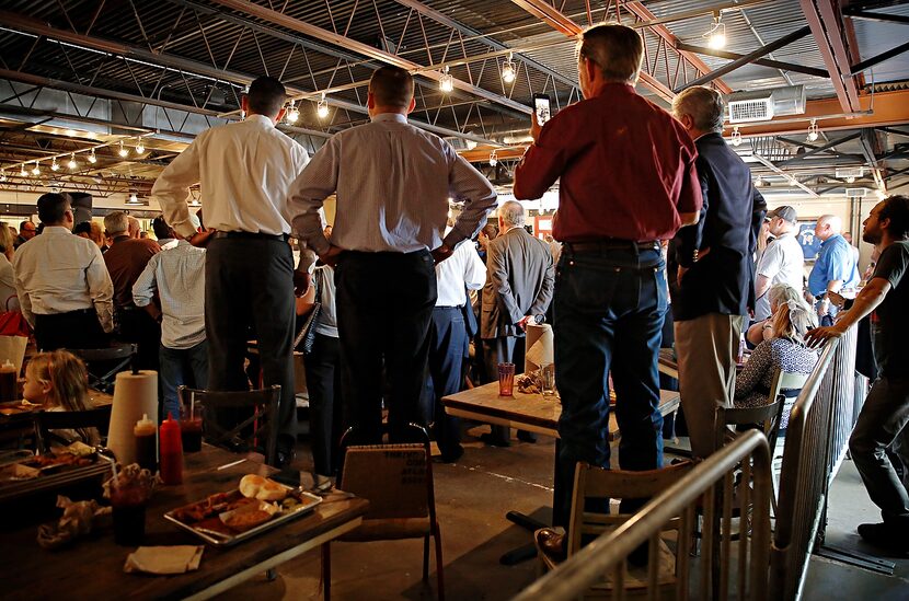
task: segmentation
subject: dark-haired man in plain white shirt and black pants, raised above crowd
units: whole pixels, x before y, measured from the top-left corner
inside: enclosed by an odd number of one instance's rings
[[[205,330],[208,388],[249,389],[243,372],[248,326],[258,340],[264,386],[281,386],[277,463],[288,464],[296,444],[294,396],[294,288],[309,285],[314,255],[303,252],[298,276],[287,243],[290,184],[309,160],[278,131],[287,93],[257,78],[241,99],[245,120],[204,131],[158,177],[151,193],[164,218],[193,245],[205,245]],[[208,232],[189,220],[189,186],[199,184]],[[231,424],[226,424],[232,427]]]

